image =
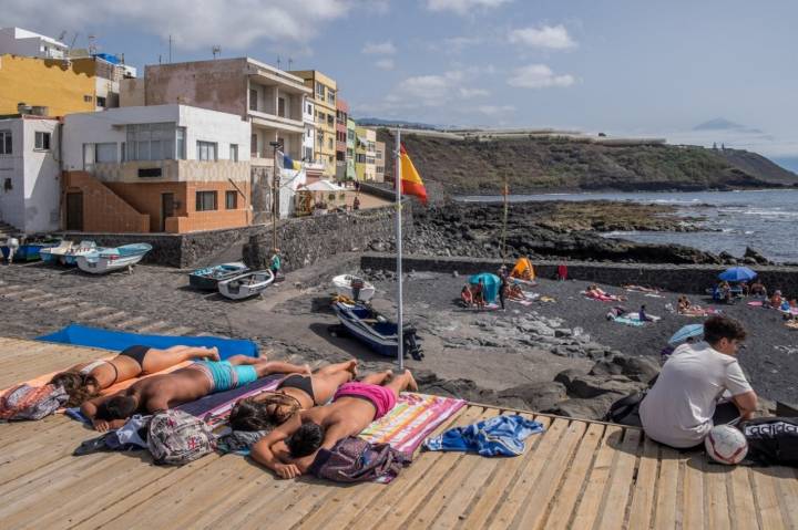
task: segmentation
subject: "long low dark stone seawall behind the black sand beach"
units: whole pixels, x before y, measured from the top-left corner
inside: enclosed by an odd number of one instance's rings
[[[402,259],[405,271],[452,272],[475,274],[477,272],[494,272],[501,260],[472,259],[464,257],[424,257],[406,256]],[[554,278],[561,261],[534,261],[535,271],[542,278]],[[717,282],[717,276],[724,266],[698,264],[658,264],[658,263],[596,263],[567,261],[569,278],[574,280],[594,281],[608,285],[634,283],[652,285],[667,291],[703,294]],[[360,259],[362,269],[393,270],[396,254],[365,253]],[[512,262],[508,263],[512,267]],[[755,267],[754,268],[768,288],[768,292],[780,289],[789,297],[798,297],[798,268],[796,267]]]

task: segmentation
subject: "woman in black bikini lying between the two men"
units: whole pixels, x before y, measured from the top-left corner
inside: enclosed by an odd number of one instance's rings
[[[270,430],[300,411],[329,403],[338,388],[357,376],[357,361],[330,364],[310,375],[291,374],[274,392],[241,399],[231,411],[234,430]]]

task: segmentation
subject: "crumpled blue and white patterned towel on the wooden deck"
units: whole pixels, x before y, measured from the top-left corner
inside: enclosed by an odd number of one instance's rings
[[[523,416],[497,416],[490,419],[454,427],[440,436],[427,438],[428,450],[477,451],[482,456],[519,456],[524,440],[542,433],[543,425]]]

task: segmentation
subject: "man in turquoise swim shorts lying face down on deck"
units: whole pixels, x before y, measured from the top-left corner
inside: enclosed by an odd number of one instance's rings
[[[129,388],[81,405],[98,430],[123,426],[134,414],[154,414],[215,392],[237,388],[269,374],[308,373],[309,367],[234,355],[227,361],[197,361],[170,374],[153,375]]]

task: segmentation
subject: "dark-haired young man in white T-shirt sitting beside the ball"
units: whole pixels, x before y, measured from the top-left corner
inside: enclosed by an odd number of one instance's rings
[[[714,425],[751,417],[757,395],[735,358],[745,337],[736,320],[712,316],[704,323],[705,342],[683,344],[673,352],[641,403],[641,423],[648,437],[690,448]],[[732,403],[719,404],[726,392]]]

